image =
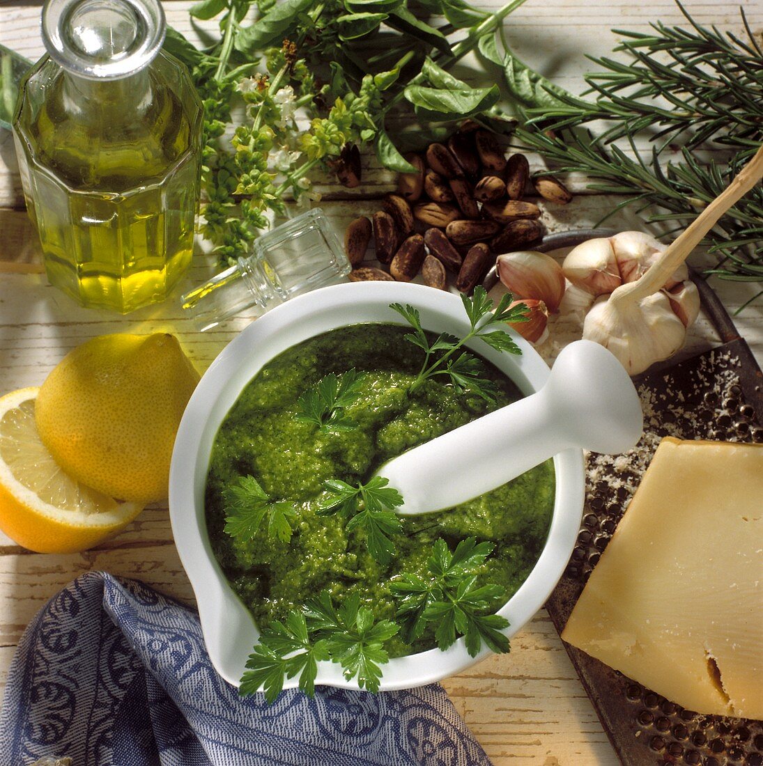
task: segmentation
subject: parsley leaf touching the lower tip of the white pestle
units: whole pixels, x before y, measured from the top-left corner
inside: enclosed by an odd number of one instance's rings
[[[380,564],[389,564],[395,545],[389,535],[400,532],[403,525],[394,512],[403,505],[403,496],[382,476],[373,476],[368,483],[352,486],[339,479],[324,482],[327,495],[317,502],[319,516],[338,513],[347,519],[347,532],[363,529],[368,552]]]

